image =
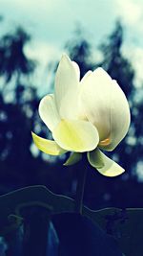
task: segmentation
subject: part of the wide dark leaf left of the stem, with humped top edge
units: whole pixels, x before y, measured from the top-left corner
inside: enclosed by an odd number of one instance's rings
[[[31,206],[46,208],[50,215],[74,211],[71,198],[57,196],[45,186],[22,188],[0,196],[0,235],[16,228],[25,217],[23,210]]]

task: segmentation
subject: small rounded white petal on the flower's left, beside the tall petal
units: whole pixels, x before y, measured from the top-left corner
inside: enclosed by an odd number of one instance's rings
[[[60,122],[60,117],[52,94],[45,96],[41,100],[39,105],[39,115],[50,130],[55,128]]]

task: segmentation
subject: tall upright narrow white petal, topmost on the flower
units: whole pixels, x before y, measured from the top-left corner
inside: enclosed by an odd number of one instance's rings
[[[55,102],[61,118],[76,119],[78,115],[79,72],[77,64],[63,55],[55,76]]]

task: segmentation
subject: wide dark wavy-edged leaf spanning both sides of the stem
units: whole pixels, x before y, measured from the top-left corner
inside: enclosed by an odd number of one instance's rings
[[[50,215],[75,212],[72,198],[55,195],[45,186],[19,189],[0,197],[0,235],[16,228],[25,217],[23,210],[31,206],[44,207]],[[107,208],[92,211],[84,206],[83,216],[112,235],[126,256],[143,255],[143,209]]]

